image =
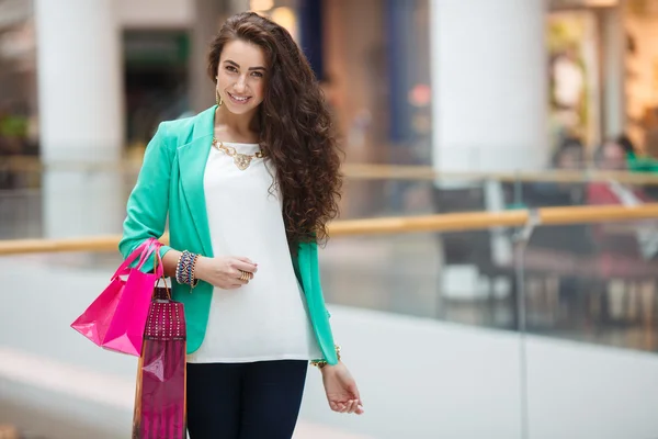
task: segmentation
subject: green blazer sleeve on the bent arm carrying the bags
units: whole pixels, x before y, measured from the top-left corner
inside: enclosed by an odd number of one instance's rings
[[[118,250],[124,259],[148,238],[159,239],[164,234],[169,212],[169,183],[173,153],[167,144],[167,125],[160,123],[146,147],[137,182],[126,205],[123,236]],[[160,256],[171,247],[162,246]],[[136,264],[135,262],[133,267]],[[145,267],[154,267],[154,257]]]

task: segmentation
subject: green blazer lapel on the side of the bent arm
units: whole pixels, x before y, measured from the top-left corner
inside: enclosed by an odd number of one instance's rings
[[[213,106],[196,116],[192,140],[178,150],[181,187],[194,227],[204,251],[204,256],[213,257],[208,214],[205,204],[203,177],[211,153],[214,133],[215,108]]]

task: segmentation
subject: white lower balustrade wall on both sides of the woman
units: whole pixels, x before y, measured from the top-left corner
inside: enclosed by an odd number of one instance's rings
[[[114,431],[109,439],[125,437],[135,359],[102,351],[68,326],[106,284],[107,273],[48,268],[39,257],[0,261],[7,268],[0,272],[7,305],[0,307],[0,408],[23,404]],[[340,431],[360,439],[521,438],[518,335],[330,309],[366,414],[331,413],[311,369],[303,428],[333,428],[339,432],[332,439],[345,437]],[[530,337],[527,359],[530,438],[658,437],[657,356]],[[8,420],[3,416],[0,409],[0,423]],[[48,437],[58,439],[54,431]]]

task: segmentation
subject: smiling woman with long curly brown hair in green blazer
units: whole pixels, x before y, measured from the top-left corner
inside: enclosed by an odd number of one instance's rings
[[[256,13],[209,52],[217,105],[160,124],[127,204],[127,256],[160,237],[188,322],[191,439],[291,438],[308,361],[331,409],[363,413],[340,361],[317,241],[338,213],[339,156],[308,61]]]

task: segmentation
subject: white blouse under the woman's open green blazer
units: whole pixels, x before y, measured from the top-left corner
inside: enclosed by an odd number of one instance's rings
[[[224,143],[241,154],[256,144]],[[254,278],[236,290],[215,288],[206,335],[188,356],[193,363],[313,360],[321,358],[304,292],[295,277],[274,172],[261,158],[246,170],[212,148],[204,175],[215,257],[247,257]]]

